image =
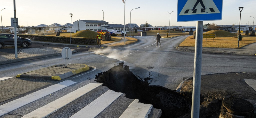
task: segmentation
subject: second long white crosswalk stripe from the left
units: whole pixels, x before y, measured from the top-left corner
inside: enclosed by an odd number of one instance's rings
[[[102,84],[99,83],[89,83],[79,89],[76,89],[73,92],[68,93],[67,95],[52,101],[51,103],[40,107],[27,115],[24,115],[22,118],[44,118],[53,112],[59,110],[61,107],[66,106],[70,102],[78,99],[79,97],[83,96],[84,94],[92,91],[93,89],[99,87]]]

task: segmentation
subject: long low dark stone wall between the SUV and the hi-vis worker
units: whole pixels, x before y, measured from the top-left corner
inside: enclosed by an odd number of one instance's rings
[[[22,38],[28,38],[32,41],[47,41],[47,42],[56,42],[56,43],[70,43],[70,37],[57,37],[57,36],[39,36],[39,35],[18,35]],[[76,38],[72,37],[72,44],[80,45],[98,45],[96,38]]]

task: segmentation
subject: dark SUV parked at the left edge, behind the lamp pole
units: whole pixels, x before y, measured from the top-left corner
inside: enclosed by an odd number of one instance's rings
[[[17,45],[27,48],[32,44],[30,39],[17,36]],[[14,46],[14,34],[0,33],[0,48],[4,46]]]

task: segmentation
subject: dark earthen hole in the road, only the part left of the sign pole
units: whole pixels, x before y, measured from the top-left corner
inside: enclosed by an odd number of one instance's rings
[[[103,83],[109,89],[125,93],[127,98],[139,99],[142,103],[152,104],[153,107],[162,109],[162,116],[179,117],[189,113],[191,98],[174,90],[162,86],[149,86],[147,81],[141,81],[130,70],[129,66],[119,63],[110,70],[99,73],[96,81]],[[150,78],[144,78],[149,80]]]

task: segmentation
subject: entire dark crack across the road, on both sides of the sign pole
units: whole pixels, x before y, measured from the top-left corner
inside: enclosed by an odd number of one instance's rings
[[[190,118],[192,94],[190,92],[176,92],[168,88],[149,85],[147,78],[138,78],[130,70],[129,66],[119,63],[110,70],[98,73],[95,79],[103,83],[109,89],[125,93],[127,98],[139,99],[141,103],[152,104],[161,109],[161,118]],[[204,99],[200,97],[200,117],[218,118],[222,102],[215,98]],[[211,102],[210,102],[211,101]],[[214,102],[213,102],[214,101]]]

